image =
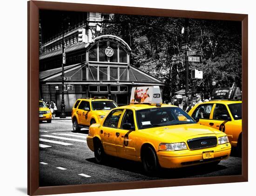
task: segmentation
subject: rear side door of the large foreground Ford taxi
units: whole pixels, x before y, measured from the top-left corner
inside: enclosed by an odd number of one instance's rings
[[[116,145],[115,145],[115,137],[116,132],[119,131],[118,125],[119,120],[121,118],[121,114],[123,109],[117,109],[111,111],[106,117],[103,126],[101,127],[101,141],[104,148],[104,151],[108,155],[116,156]]]

